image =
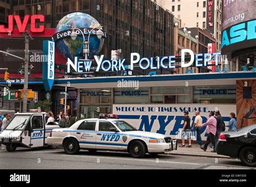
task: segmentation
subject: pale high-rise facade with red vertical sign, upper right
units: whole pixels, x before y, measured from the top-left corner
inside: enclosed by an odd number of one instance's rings
[[[215,38],[215,51],[221,50],[222,0],[159,0],[159,3],[181,19],[182,26],[207,29]]]

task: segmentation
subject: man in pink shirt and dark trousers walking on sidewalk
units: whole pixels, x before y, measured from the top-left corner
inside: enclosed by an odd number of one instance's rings
[[[216,135],[216,128],[217,128],[217,120],[214,117],[214,112],[209,113],[209,119],[203,123],[199,127],[205,127],[206,130],[205,133],[208,134],[206,138],[206,143],[204,146],[200,147],[204,151],[207,150],[208,144],[211,142],[213,144],[213,150],[211,151],[212,153],[216,153],[215,151],[215,135]]]

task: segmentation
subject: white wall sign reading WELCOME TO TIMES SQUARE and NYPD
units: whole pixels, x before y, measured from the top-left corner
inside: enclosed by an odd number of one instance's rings
[[[180,130],[184,124],[184,110],[190,112],[191,127],[199,110],[203,122],[208,119],[210,111],[220,110],[226,124],[230,121],[230,113],[236,111],[236,105],[204,105],[204,104],[157,104],[157,105],[113,105],[113,114],[123,119],[138,130],[165,134],[172,138],[181,138]],[[201,129],[201,137],[206,140],[206,127]],[[227,129],[227,128],[226,128]],[[194,131],[192,132],[194,135]]]

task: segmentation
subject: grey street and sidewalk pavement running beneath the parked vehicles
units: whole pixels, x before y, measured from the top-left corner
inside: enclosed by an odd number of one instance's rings
[[[78,155],[68,155],[63,149],[18,148],[13,153],[0,151],[0,169],[255,169],[245,167],[238,159],[217,157],[210,150],[204,152],[195,146],[157,157],[132,158],[113,151],[80,150]]]

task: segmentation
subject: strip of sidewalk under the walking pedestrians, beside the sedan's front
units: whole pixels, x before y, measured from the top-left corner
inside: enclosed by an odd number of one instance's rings
[[[211,158],[230,158],[229,156],[218,155],[217,153],[211,153],[212,148],[208,147],[206,151],[200,149],[197,144],[192,144],[191,148],[179,147],[177,150],[170,151],[168,155],[184,155],[184,156],[201,156],[201,157],[211,157]]]

